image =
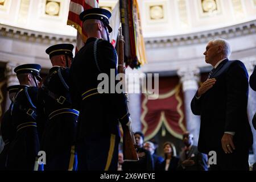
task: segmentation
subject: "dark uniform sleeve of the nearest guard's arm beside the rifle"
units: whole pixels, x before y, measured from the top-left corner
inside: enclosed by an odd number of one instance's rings
[[[98,52],[97,55],[100,55],[100,69],[101,71],[106,73],[109,78],[112,78],[110,76],[111,72],[115,73],[115,76],[117,75],[117,54],[115,53],[114,47],[112,44],[110,44],[107,41],[101,41],[98,45]],[[102,67],[103,65],[103,67]],[[116,86],[118,84],[118,81],[115,81]],[[109,80],[109,93],[111,85],[111,80]],[[112,102],[114,109],[117,113],[117,117],[119,121],[122,124],[126,124],[129,121],[129,113],[127,109],[127,99],[125,94],[123,93],[117,93],[114,89],[114,93],[110,93],[110,101]]]

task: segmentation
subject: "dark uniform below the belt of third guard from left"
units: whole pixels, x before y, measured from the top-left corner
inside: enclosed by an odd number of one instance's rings
[[[55,111],[57,117],[52,118],[45,127],[42,141],[42,150],[46,152],[44,171],[76,171],[77,115],[63,112],[63,110],[59,110],[59,113]]]

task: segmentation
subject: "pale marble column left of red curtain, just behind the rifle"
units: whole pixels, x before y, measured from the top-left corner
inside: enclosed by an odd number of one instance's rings
[[[138,70],[126,69],[126,91],[129,96],[129,111],[133,131],[141,131],[141,75]]]

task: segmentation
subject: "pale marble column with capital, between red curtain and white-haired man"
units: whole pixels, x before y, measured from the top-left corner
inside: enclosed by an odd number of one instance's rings
[[[191,111],[191,100],[198,89],[200,70],[198,68],[181,68],[177,71],[183,86],[184,108],[187,130],[194,136],[194,144],[197,146],[200,130],[200,116]]]

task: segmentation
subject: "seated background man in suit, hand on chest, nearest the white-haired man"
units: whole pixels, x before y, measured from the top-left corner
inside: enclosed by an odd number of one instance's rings
[[[197,146],[193,145],[193,135],[183,134],[184,150],[180,153],[178,170],[183,171],[208,171],[207,155],[201,154]]]

